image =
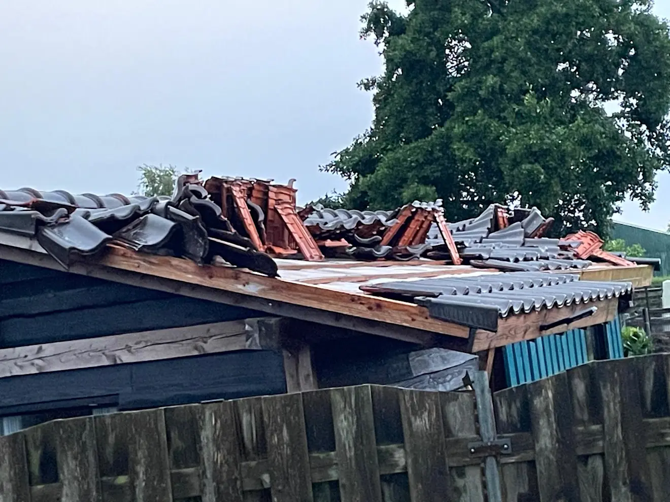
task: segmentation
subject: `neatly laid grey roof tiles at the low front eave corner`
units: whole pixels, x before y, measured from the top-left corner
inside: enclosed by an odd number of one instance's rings
[[[632,292],[630,282],[580,281],[573,274],[513,272],[361,286],[386,297],[411,298],[437,319],[496,331],[498,316],[610,299]]]

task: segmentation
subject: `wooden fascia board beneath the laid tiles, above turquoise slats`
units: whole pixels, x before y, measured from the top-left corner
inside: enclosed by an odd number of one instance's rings
[[[561,319],[567,319],[570,316],[588,309],[598,307],[598,311],[590,317],[580,319],[574,323],[556,326],[546,331],[540,331],[541,325],[547,325]],[[509,315],[498,322],[498,333],[478,330],[475,339],[473,352],[488,350],[491,347],[503,347],[509,343],[515,343],[521,340],[532,340],[543,335],[552,333],[563,333],[570,329],[583,328],[595,324],[608,323],[614,319],[618,309],[618,298],[601,300],[589,303],[573,304],[569,307],[553,307],[552,309],[542,309],[525,315]]]

